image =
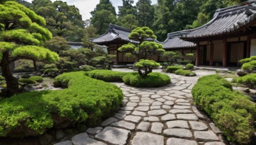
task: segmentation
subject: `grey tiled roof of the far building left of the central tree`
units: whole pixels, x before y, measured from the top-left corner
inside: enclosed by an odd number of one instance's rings
[[[132,41],[128,38],[131,30],[125,29],[124,27],[120,27],[118,25],[109,24],[108,31],[105,34],[99,36],[98,38],[90,39],[93,43],[102,44],[114,41],[116,39],[122,39],[123,41],[127,41],[127,43],[138,43],[137,41]]]

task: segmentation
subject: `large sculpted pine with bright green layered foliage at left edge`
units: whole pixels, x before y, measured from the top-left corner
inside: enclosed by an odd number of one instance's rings
[[[9,64],[19,59],[56,62],[58,54],[43,48],[44,41],[52,38],[45,29],[44,18],[13,1],[0,2],[0,67],[6,79],[7,93],[19,92],[19,82]]]

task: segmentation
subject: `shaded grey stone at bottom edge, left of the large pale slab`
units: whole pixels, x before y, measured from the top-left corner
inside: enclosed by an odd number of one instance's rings
[[[86,134],[86,133],[78,134],[78,135],[72,137],[72,144],[74,144],[74,145],[86,145],[86,144],[90,144],[90,145],[106,145],[103,142],[91,139],[89,137],[89,135]]]

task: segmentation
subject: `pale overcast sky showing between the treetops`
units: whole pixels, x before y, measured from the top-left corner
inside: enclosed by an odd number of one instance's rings
[[[33,0],[26,0],[31,3]],[[56,0],[51,0],[56,1]],[[93,11],[96,5],[99,3],[99,0],[62,0],[66,1],[68,5],[75,5],[79,8],[81,15],[83,16],[83,20],[90,18],[92,15],[90,11]],[[117,6],[122,6],[122,0],[110,0],[113,3],[113,6],[116,8],[116,12],[118,11]],[[136,4],[138,0],[134,0],[134,4]],[[157,0],[152,0],[152,4],[156,4]]]

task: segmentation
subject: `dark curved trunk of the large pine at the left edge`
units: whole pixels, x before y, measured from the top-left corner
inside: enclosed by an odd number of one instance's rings
[[[0,66],[2,69],[2,76],[5,78],[7,89],[6,89],[6,94],[11,96],[15,93],[19,92],[19,81],[17,78],[15,78],[12,75],[12,72],[10,70],[9,66],[9,52],[4,52],[3,53],[3,59],[1,60]]]

